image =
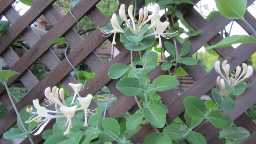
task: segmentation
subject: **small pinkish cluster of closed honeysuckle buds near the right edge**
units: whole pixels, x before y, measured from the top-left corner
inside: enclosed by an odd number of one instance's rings
[[[222,62],[222,69],[224,71],[224,74],[222,74],[220,69],[220,61],[215,62],[214,69],[218,74],[220,74],[220,76],[217,77],[217,85],[220,88],[220,93],[222,95],[224,95],[225,93],[225,87],[226,87],[225,85],[227,85],[228,87],[235,87],[246,78],[249,78],[252,76],[253,74],[252,66],[247,66],[247,64],[242,63],[242,67],[243,67],[242,73],[241,73],[241,67],[237,66],[235,76],[229,77],[230,65],[227,64],[227,60],[224,60]]]

